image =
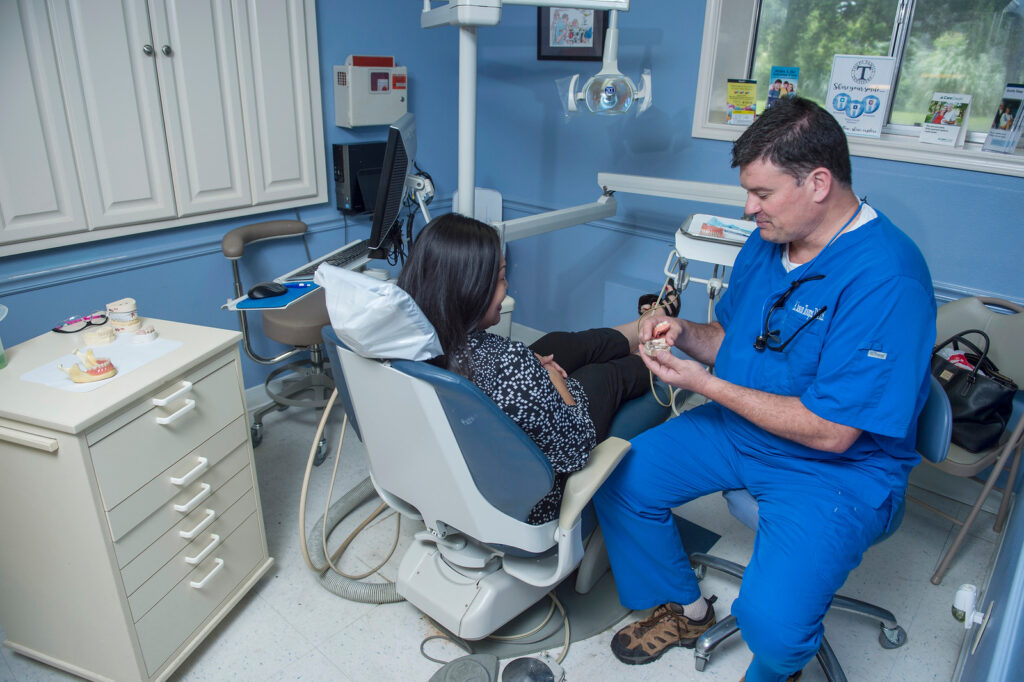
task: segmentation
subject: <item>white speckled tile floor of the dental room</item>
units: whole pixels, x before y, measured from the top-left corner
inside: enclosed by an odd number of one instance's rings
[[[298,504],[314,428],[314,416],[309,412],[288,411],[267,418],[264,441],[256,449],[256,468],[267,541],[276,562],[172,679],[425,682],[439,668],[420,653],[421,641],[435,631],[414,607],[408,603],[369,605],[346,601],[317,585],[315,577],[305,567],[299,549]],[[337,424],[334,430],[338,430]],[[313,471],[309,525],[323,514],[334,462],[332,455],[327,465]],[[335,498],[366,473],[362,446],[349,433],[341,455]],[[952,513],[964,515],[963,507],[954,503],[937,504],[945,504]],[[361,520],[375,506],[368,503],[354,516]],[[753,545],[752,534],[728,514],[720,496],[697,500],[680,511],[691,521],[722,536],[713,553],[745,561]],[[898,532],[868,551],[843,592],[893,610],[906,629],[909,641],[900,649],[884,650],[877,641],[876,624],[847,613],[829,613],[826,634],[850,680],[904,682],[952,678],[964,629],[950,616],[949,605],[956,586],[962,583],[984,585],[997,540],[991,531],[991,515],[982,514],[943,585],[935,587],[929,577],[940,551],[951,540],[952,524],[916,505],[908,506]],[[344,538],[355,523],[343,523],[336,538]],[[390,547],[394,524],[393,515],[377,519],[352,545],[341,567],[354,572],[375,565]],[[380,571],[384,577],[394,578],[398,557],[413,530],[413,523],[402,523],[404,542]],[[719,596],[718,611],[728,612],[736,595],[735,583],[709,574],[705,585],[706,594]],[[566,679],[735,681],[750,662],[746,647],[733,638],[735,641],[728,641],[715,651],[703,673],[694,670],[693,654],[685,649],[670,651],[649,666],[624,666],[608,650],[613,631],[609,629],[571,645],[562,663]],[[463,653],[438,641],[430,642],[427,647],[438,658]],[[558,650],[551,654],[557,655]],[[0,679],[28,682],[72,678],[4,648]],[[824,678],[817,664],[811,662],[803,679]]]

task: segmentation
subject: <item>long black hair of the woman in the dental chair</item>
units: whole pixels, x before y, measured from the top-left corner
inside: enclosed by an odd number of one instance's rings
[[[498,231],[457,213],[434,218],[416,238],[398,286],[437,332],[444,357],[435,364],[469,376],[468,335],[490,306],[501,261]]]

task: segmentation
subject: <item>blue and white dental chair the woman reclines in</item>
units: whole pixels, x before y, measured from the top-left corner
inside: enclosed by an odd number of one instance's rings
[[[485,393],[427,363],[361,357],[330,327],[324,339],[374,486],[426,525],[399,565],[399,595],[455,635],[481,639],[569,576],[585,543],[588,569],[579,571],[577,589],[589,590],[601,574],[593,557],[603,544],[590,534],[588,503],[628,442],[599,443],[569,476],[559,518],[530,525],[530,509],[554,484],[551,464]],[[635,398],[611,431],[629,437],[667,417],[649,396]]]

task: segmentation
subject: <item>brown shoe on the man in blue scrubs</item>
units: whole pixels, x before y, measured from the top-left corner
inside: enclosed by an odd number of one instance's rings
[[[697,638],[717,623],[712,605],[716,599],[706,599],[708,613],[700,621],[683,615],[683,607],[677,603],[662,604],[648,617],[631,623],[615,633],[611,652],[624,664],[638,666],[657,660],[674,646],[692,649]]]

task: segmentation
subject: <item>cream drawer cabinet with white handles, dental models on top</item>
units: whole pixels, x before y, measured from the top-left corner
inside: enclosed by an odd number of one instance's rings
[[[4,644],[92,680],[164,680],[269,569],[240,334],[148,319],[180,341],[88,392],[0,372]]]

